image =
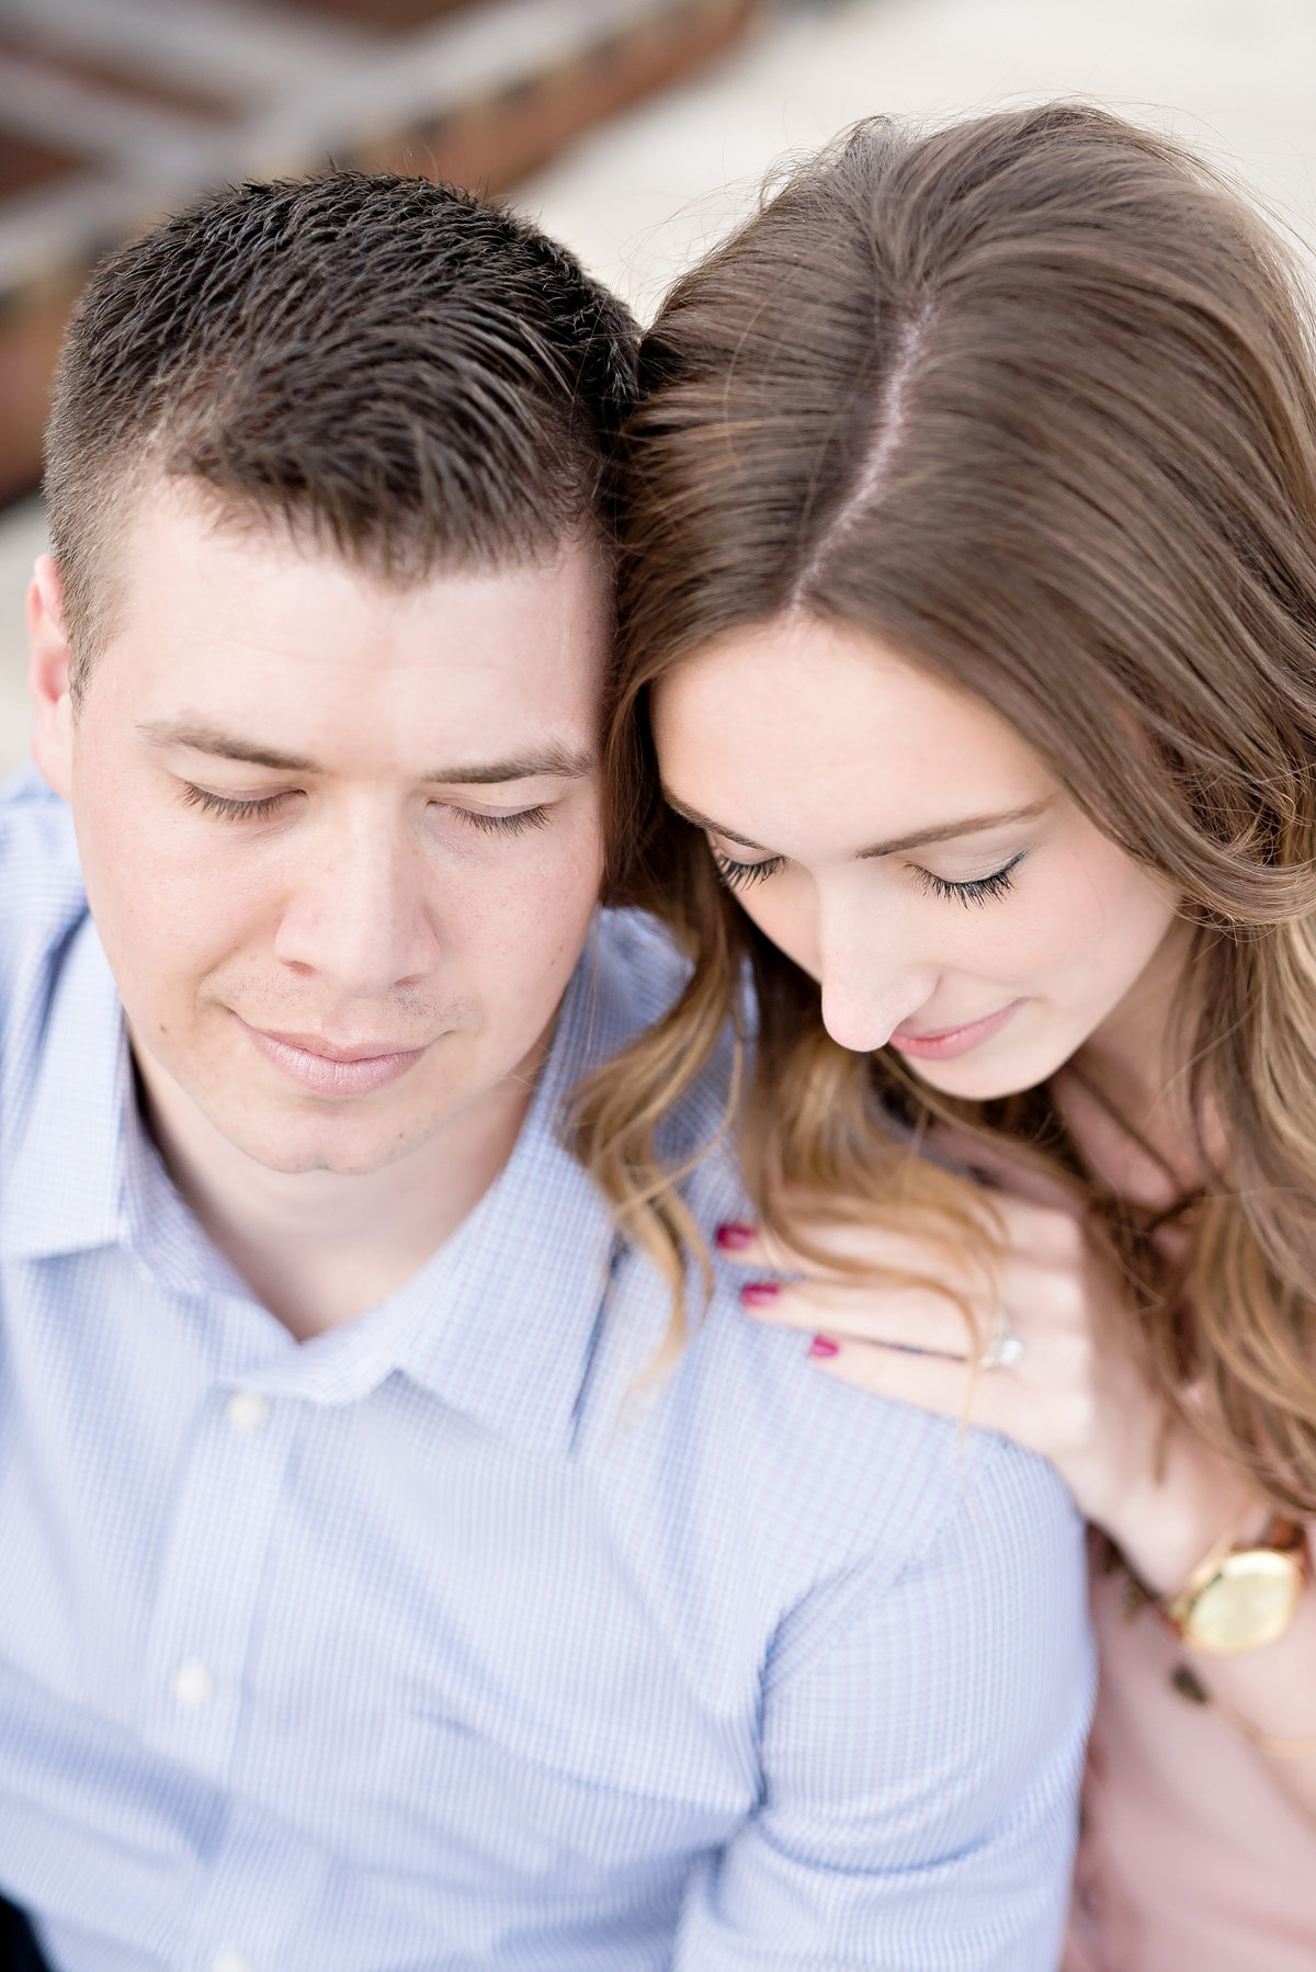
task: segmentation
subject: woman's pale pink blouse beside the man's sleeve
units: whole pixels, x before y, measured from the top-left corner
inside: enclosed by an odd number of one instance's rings
[[[1063,1972],[1314,1972],[1316,1822],[1225,1720],[1121,1574],[1093,1582],[1101,1696]]]

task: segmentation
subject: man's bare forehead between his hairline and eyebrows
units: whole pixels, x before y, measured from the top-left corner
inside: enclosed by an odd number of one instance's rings
[[[306,755],[314,726],[302,732],[298,714],[308,698],[326,712],[347,700],[369,718],[393,696],[399,716],[426,728],[436,718],[460,726],[485,700],[479,732],[444,740],[440,728],[446,765],[472,767],[521,755],[554,726],[570,728],[558,740],[578,751],[580,726],[596,716],[612,570],[588,536],[550,558],[402,584],[292,540],[278,521],[231,527],[191,487],[166,485],[142,499],[124,548],[110,645],[136,659],[138,676],[152,674],[138,714],[152,726],[191,724]]]

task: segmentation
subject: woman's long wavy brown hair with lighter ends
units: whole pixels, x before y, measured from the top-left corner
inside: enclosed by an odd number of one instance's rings
[[[578,1146],[679,1284],[661,1120],[758,1008],[736,1128],[758,1209],[971,1236],[937,1118],[1044,1160],[1134,1284],[1170,1406],[1316,1513],[1316,387],[1286,248],[1174,144],[1087,106],[878,118],[669,296],[641,351],[610,732],[618,895],[693,960],[580,1094]],[[829,1039],[817,984],[665,809],[649,692],[787,613],[973,692],[1194,927],[1204,1183],[1182,1258],[1087,1169],[1046,1087],[937,1096]],[[874,761],[874,773],[880,773]],[[819,789],[819,799],[825,799]],[[906,1128],[892,1130],[892,1116]],[[1221,1150],[1223,1144],[1223,1150]]]

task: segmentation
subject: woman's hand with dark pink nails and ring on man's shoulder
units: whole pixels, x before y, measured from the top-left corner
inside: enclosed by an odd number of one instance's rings
[[[809,1229],[860,1272],[819,1268],[752,1227],[724,1227],[718,1246],[754,1270],[746,1309],[809,1331],[823,1374],[1040,1451],[1148,1587],[1170,1593],[1225,1528],[1249,1534],[1267,1511],[1166,1418],[1136,1361],[1134,1315],[1081,1219],[1058,1189],[1038,1197],[1036,1179],[1024,1181],[1034,1197],[990,1191],[1000,1236],[990,1280],[971,1254],[955,1262],[878,1227]],[[797,1278],[764,1280],[766,1270]],[[945,1292],[882,1274],[925,1276]],[[977,1319],[977,1345],[957,1298]],[[983,1347],[1000,1337],[1018,1339],[1014,1361],[983,1367]]]

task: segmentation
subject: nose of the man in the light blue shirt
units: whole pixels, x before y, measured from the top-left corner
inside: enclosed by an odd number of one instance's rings
[[[308,838],[274,951],[353,1000],[430,972],[438,939],[424,858],[404,826],[355,812]]]

